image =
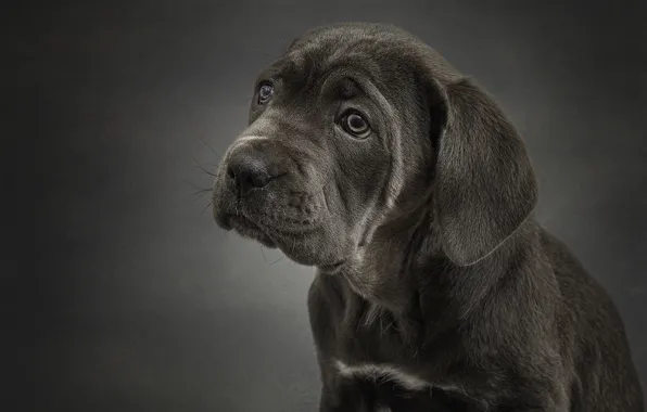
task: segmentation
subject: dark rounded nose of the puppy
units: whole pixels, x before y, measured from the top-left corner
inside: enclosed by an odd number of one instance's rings
[[[243,195],[252,189],[266,186],[275,177],[270,169],[263,153],[238,150],[229,158],[227,175],[233,179],[239,195]]]

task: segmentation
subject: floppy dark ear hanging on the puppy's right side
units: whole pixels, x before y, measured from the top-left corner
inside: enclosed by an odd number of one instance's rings
[[[527,219],[537,183],[515,127],[471,79],[440,87],[446,123],[435,170],[435,211],[447,257],[470,266]]]

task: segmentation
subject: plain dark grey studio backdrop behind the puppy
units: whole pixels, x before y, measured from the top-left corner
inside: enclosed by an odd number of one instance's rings
[[[202,213],[208,194],[193,195],[187,181],[211,185],[192,157],[213,170],[245,127],[261,69],[305,29],[342,21],[401,25],[498,98],[534,160],[540,220],[608,288],[647,378],[645,1],[88,1],[13,11],[3,30],[17,57],[2,68],[13,96],[3,116],[17,131],[12,142],[35,143],[36,248],[12,324],[26,319],[35,335],[9,353],[36,390],[29,408],[316,410],[313,269],[274,263],[280,253],[219,231]],[[17,273],[17,260],[3,266]]]

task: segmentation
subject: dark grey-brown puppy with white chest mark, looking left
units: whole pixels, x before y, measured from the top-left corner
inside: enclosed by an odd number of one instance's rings
[[[643,412],[611,298],[533,215],[523,141],[386,24],[316,27],[254,86],[217,224],[315,267],[320,412]]]

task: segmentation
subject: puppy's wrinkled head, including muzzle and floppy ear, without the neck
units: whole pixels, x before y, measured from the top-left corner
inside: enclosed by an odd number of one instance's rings
[[[435,51],[377,24],[316,28],[254,85],[217,170],[217,223],[333,270],[420,208],[457,265],[502,244],[537,197],[498,106]]]

